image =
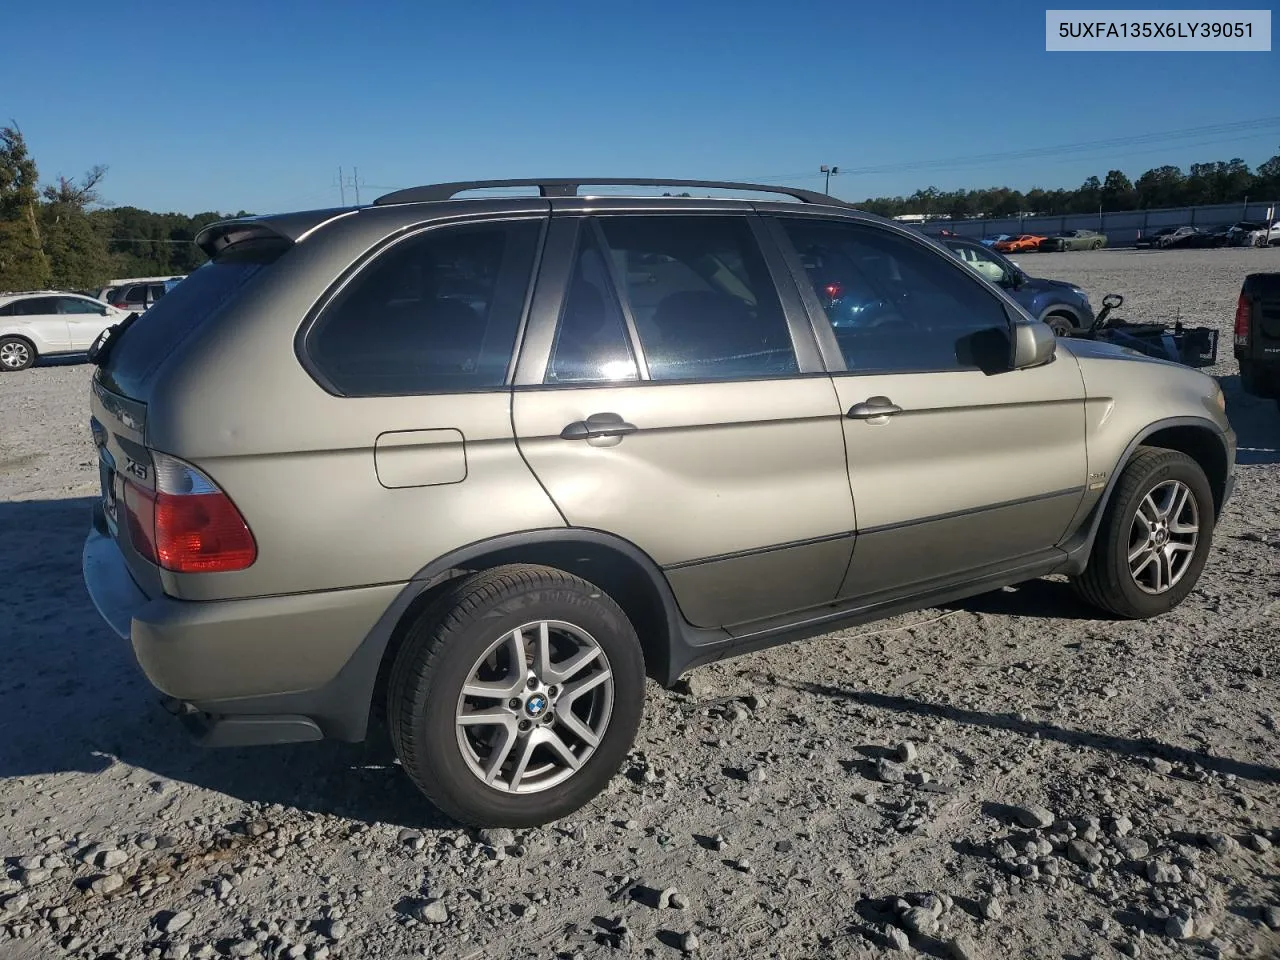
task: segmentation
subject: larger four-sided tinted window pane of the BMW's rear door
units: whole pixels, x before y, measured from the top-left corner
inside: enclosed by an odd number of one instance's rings
[[[794,374],[782,305],[740,216],[599,220],[654,380]]]

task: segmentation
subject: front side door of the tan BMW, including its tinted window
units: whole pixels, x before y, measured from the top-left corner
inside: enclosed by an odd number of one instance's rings
[[[1010,370],[1001,297],[902,230],[812,216],[774,224],[838,370],[858,507],[840,596],[923,593],[1052,554],[1088,474],[1074,360]],[[814,260],[820,279],[805,270]],[[822,284],[833,275],[855,325],[828,321]]]

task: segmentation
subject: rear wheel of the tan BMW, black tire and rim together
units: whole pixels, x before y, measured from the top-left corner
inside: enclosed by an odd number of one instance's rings
[[[411,627],[388,726],[413,783],[479,827],[535,827],[599,794],[635,740],[644,657],[622,608],[561,570],[462,577]]]

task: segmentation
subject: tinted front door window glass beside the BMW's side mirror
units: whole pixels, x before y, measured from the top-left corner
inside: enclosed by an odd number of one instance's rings
[[[782,224],[851,371],[1007,361],[1004,305],[945,255],[876,227],[799,218]]]

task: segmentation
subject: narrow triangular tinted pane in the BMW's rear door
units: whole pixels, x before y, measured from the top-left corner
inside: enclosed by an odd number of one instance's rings
[[[547,383],[635,380],[640,376],[609,268],[585,223],[556,330]]]

